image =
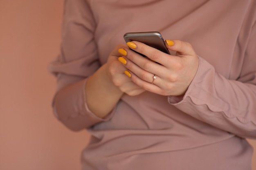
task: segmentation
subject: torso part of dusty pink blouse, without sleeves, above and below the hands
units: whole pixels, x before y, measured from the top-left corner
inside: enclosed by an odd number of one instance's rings
[[[190,42],[227,79],[237,79],[242,68],[239,44],[246,41],[249,2],[88,0],[101,64],[115,45],[125,43],[124,33],[159,31],[165,39]],[[86,170],[250,169],[252,151],[244,139],[186,115],[166,96],[153,93],[124,95],[112,119],[89,132],[92,141],[82,154]]]

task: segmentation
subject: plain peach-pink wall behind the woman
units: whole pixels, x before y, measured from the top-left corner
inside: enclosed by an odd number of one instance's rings
[[[51,108],[47,64],[59,51],[62,13],[63,0],[0,0],[0,170],[80,169],[89,135],[65,128]]]

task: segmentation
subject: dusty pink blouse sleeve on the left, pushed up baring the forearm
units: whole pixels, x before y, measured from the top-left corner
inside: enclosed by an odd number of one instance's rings
[[[85,83],[99,67],[94,42],[96,24],[85,0],[65,0],[60,55],[49,64],[57,77],[53,100],[54,115],[71,130],[81,130],[108,121],[101,119],[86,105]]]

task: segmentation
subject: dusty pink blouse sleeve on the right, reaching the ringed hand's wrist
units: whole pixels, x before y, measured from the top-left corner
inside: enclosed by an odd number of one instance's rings
[[[200,57],[200,66],[181,101],[168,102],[183,112],[240,137],[256,138],[256,24],[252,27],[243,68],[237,80],[216,73]]]

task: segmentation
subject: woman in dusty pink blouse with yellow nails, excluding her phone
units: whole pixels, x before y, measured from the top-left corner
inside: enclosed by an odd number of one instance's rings
[[[251,170],[255,9],[255,0],[66,0],[49,70],[56,117],[92,135],[82,169]],[[171,55],[124,44],[124,33],[143,31],[162,33]]]

